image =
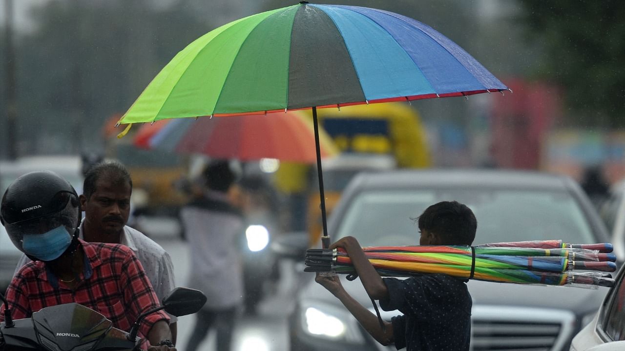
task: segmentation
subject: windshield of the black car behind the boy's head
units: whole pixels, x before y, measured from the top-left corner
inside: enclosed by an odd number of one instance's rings
[[[370,190],[352,200],[337,237],[352,235],[362,246],[418,245],[411,218],[427,206],[457,200],[477,218],[474,245],[560,239],[596,242],[586,216],[567,192],[498,189]]]

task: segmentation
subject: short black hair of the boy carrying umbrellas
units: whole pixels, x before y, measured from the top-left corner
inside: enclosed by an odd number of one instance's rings
[[[477,219],[469,207],[456,201],[431,205],[413,220],[419,230],[436,235],[441,245],[471,245],[475,239]]]

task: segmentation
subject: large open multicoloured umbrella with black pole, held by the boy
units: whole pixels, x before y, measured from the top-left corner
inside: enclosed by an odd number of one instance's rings
[[[317,127],[317,107],[504,90],[471,55],[426,24],[378,9],[302,1],[199,37],[159,72],[119,124],[312,108]]]

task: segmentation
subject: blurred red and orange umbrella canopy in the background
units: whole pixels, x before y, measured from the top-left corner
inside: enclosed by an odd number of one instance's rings
[[[159,121],[141,126],[133,142],[146,149],[197,153],[219,159],[315,162],[316,152],[311,147],[312,119],[299,111],[270,115]],[[338,153],[326,132],[319,131],[319,139],[321,157]]]

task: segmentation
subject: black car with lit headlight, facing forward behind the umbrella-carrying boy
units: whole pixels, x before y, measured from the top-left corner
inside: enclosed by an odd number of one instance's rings
[[[569,177],[524,171],[429,170],[360,174],[331,214],[332,241],[362,246],[417,245],[411,220],[442,200],[468,205],[477,217],[474,244],[560,239],[609,242],[604,224]],[[343,277],[344,278],[344,277]],[[373,311],[359,281],[347,292]],[[471,280],[472,350],[567,350],[607,288],[501,284]],[[399,312],[382,312],[390,320]],[[309,274],[289,317],[291,350],[394,350],[377,344],[340,302]]]

